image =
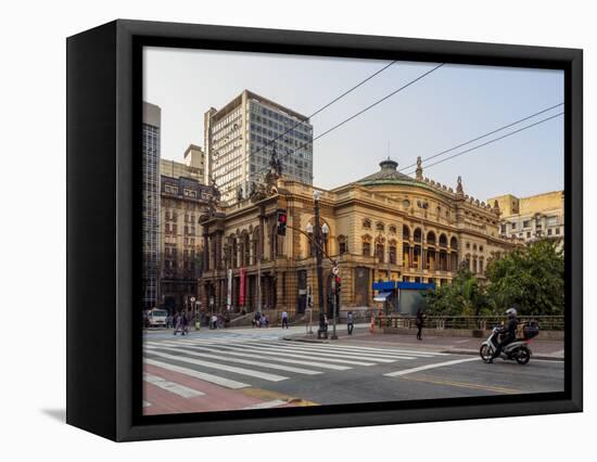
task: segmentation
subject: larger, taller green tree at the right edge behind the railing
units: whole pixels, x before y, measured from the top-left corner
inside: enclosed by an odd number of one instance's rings
[[[541,240],[487,264],[487,296],[523,316],[563,315],[564,261],[559,241]]]

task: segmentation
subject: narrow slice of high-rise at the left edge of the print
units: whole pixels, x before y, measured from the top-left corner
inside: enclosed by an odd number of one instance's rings
[[[143,102],[142,126],[142,207],[143,266],[142,303],[144,309],[157,305],[157,265],[160,254],[160,129],[162,110]]]

